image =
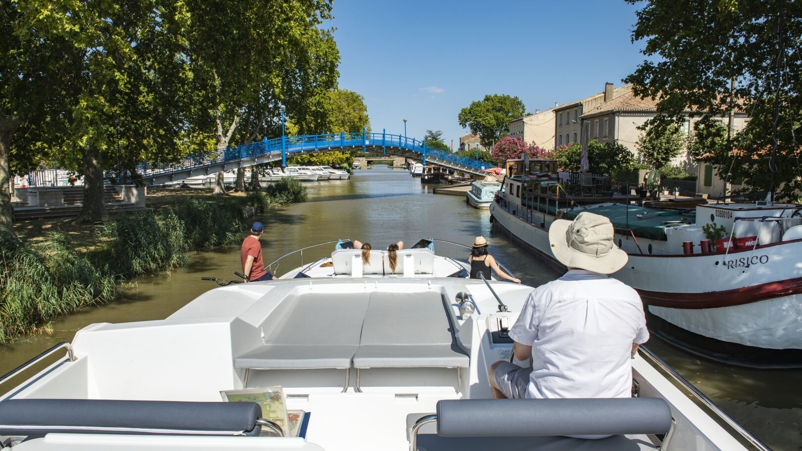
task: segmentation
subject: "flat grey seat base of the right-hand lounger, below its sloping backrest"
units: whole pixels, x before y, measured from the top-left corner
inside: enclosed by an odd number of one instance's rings
[[[452,344],[363,344],[354,368],[468,368],[470,359]]]

